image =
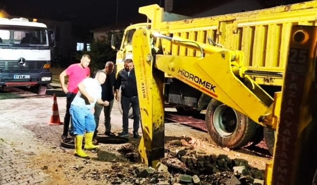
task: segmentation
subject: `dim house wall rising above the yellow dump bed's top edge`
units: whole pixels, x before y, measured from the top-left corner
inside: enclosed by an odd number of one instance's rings
[[[213,15],[223,15],[263,8],[264,6],[260,4],[257,0],[233,0],[231,2],[214,7],[208,11],[197,13],[193,17],[208,17]]]

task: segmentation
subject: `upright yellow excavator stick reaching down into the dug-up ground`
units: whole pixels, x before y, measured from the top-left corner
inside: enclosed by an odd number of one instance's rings
[[[137,30],[132,45],[143,131],[139,154],[142,162],[155,167],[164,156],[164,73],[152,67],[148,30]]]

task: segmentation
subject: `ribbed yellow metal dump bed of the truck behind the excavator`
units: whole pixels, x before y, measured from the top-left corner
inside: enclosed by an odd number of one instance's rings
[[[316,25],[317,1],[169,22],[163,21],[163,8],[158,5],[141,7],[139,12],[152,21],[153,31],[180,37],[181,33],[187,33],[182,38],[190,37],[189,39],[195,41],[199,41],[201,37],[211,37],[224,48],[243,51],[247,69],[282,73],[287,60],[291,25]],[[202,36],[200,33],[203,33]],[[170,46],[171,43],[167,40],[163,42],[169,43],[162,44],[164,54],[194,56],[196,52],[195,56],[199,56],[200,51],[197,49],[193,52],[190,48],[186,52],[186,48],[182,46]],[[208,43],[208,40],[203,42]],[[281,86],[283,82],[276,76],[251,77],[265,85]]]

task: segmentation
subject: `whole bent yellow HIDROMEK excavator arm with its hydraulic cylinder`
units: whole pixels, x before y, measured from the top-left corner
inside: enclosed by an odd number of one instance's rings
[[[200,49],[206,57],[170,56],[152,53],[153,37],[170,39],[173,43]],[[142,161],[152,161],[164,154],[163,84],[164,72],[240,111],[255,122],[263,123],[273,99],[247,74],[242,66],[243,53],[198,43],[180,37],[137,30],[132,39],[133,61],[137,77],[142,118]],[[154,58],[155,57],[155,58]],[[246,101],[245,98],[248,100]]]

